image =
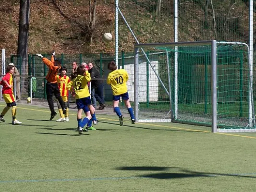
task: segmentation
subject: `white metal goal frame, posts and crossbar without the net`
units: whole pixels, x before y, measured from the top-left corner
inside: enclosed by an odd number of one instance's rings
[[[249,111],[248,111],[248,125],[246,129],[218,129],[218,123],[217,123],[217,44],[236,44],[236,45],[243,45],[246,46],[248,49],[248,60],[249,60],[249,70],[250,70],[250,85],[249,85]],[[149,43],[149,44],[134,44],[134,115],[136,122],[171,122],[172,120],[175,120],[177,118],[177,111],[178,111],[178,62],[177,58],[175,58],[174,63],[174,108],[170,106],[170,113],[171,113],[171,119],[139,119],[139,49],[144,54],[146,60],[149,63],[149,66],[152,68],[152,70],[155,72],[155,74],[158,76],[157,72],[154,70],[152,65],[150,64],[150,60],[146,56],[145,51],[143,48],[153,48],[153,47],[174,47],[175,49],[178,48],[178,46],[204,46],[204,45],[210,45],[211,46],[211,102],[212,102],[212,118],[211,118],[211,128],[212,132],[256,132],[256,129],[250,128],[255,126],[255,115],[254,115],[254,107],[253,107],[253,66],[252,62],[250,61],[250,51],[249,47],[245,43],[240,42],[217,42],[216,40],[211,41],[194,41],[194,42],[173,42],[173,43]],[[178,56],[178,52],[175,52],[175,57]],[[168,70],[169,71],[169,70]],[[170,76],[170,74],[169,74]],[[161,79],[158,77],[159,83],[162,84]],[[171,82],[169,78],[169,90],[167,90],[165,87],[166,93],[171,97]],[[173,117],[172,111],[175,110],[175,116]]]

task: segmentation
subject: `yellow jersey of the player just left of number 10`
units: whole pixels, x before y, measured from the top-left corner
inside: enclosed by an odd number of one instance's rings
[[[91,81],[91,75],[88,71],[85,72],[85,75],[78,75],[74,78],[68,85],[68,90],[74,89],[75,99],[84,98],[90,96],[88,89],[88,82]]]

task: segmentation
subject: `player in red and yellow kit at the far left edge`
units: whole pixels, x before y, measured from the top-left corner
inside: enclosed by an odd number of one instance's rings
[[[14,74],[15,69],[13,65],[8,65],[6,69],[6,75],[2,78],[0,84],[3,86],[2,88],[2,96],[6,103],[6,107],[2,110],[0,114],[0,121],[5,122],[3,116],[8,112],[10,108],[12,108],[12,124],[21,124],[22,122],[16,119],[17,113],[17,105],[15,101],[15,97],[13,95],[13,82],[12,75]]]

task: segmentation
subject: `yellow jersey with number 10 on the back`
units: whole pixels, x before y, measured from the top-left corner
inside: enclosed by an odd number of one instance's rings
[[[128,73],[124,69],[118,69],[110,72],[107,78],[107,84],[111,85],[113,96],[119,96],[127,92],[127,81]]]

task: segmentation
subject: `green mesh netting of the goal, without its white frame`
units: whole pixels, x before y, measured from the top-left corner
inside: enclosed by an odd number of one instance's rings
[[[152,47],[144,50],[156,73],[148,65],[146,56],[141,54],[139,118],[168,119],[171,118],[172,109],[175,120],[210,125],[211,46],[178,47],[177,51],[172,47]],[[177,78],[174,66],[175,52],[178,64]],[[250,86],[247,47],[218,44],[217,55],[218,126],[226,129],[245,128],[249,123]],[[126,69],[129,71],[129,68]],[[171,102],[168,95],[169,86]]]

